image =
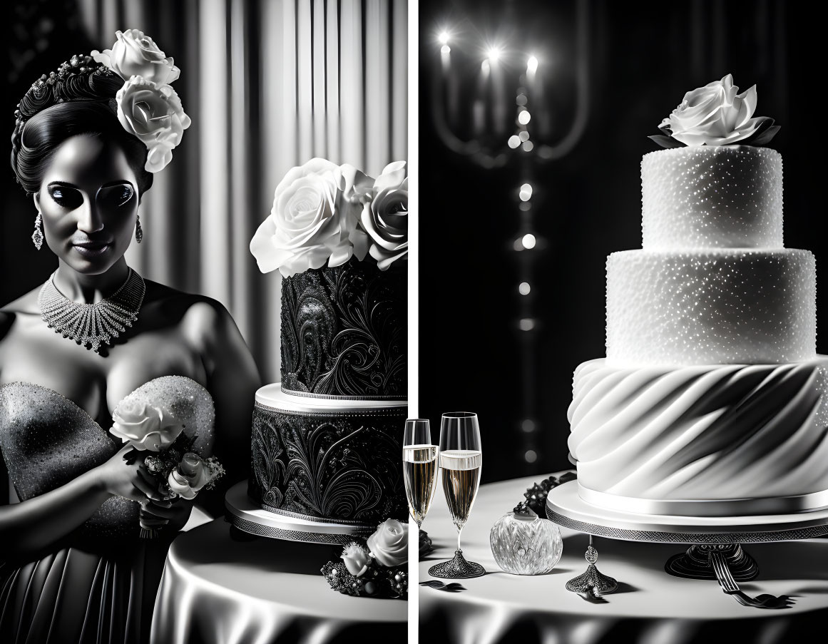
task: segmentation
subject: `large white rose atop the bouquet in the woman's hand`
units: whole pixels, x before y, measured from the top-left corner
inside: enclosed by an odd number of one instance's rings
[[[161,407],[124,398],[112,415],[109,432],[141,451],[158,452],[172,445],[184,425]]]

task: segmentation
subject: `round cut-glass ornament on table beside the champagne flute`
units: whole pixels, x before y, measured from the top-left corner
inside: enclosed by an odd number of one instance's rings
[[[520,502],[495,521],[489,532],[494,560],[510,574],[544,574],[561,560],[561,529]]]

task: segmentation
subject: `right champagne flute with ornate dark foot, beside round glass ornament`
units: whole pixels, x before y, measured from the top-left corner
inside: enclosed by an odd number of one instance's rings
[[[460,535],[465,522],[469,520],[474,497],[480,486],[482,464],[477,414],[470,411],[443,414],[440,421],[440,470],[445,502],[457,527],[457,550],[450,561],[431,566],[428,574],[432,577],[469,579],[486,573],[482,565],[466,561],[460,548]]]

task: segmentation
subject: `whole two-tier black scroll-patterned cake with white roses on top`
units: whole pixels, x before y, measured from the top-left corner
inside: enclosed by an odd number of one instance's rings
[[[375,181],[309,161],[277,187],[253,238],[259,267],[283,275],[282,382],[256,394],[248,514],[258,525],[237,524],[245,530],[344,542],[407,519],[407,262],[396,261],[407,242],[385,238],[406,214],[404,168]]]

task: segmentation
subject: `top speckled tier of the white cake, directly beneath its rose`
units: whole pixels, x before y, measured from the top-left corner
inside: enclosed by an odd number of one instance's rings
[[[782,155],[676,147],[641,161],[643,248],[782,248]]]

